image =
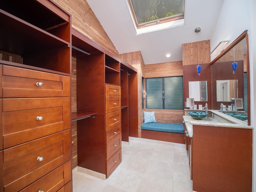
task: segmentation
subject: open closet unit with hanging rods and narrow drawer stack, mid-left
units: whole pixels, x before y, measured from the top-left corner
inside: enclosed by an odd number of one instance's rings
[[[108,178],[122,161],[122,121],[129,119],[128,113],[123,117],[121,110],[123,90],[128,90],[128,84],[121,85],[122,61],[74,29],[72,48],[77,90],[77,112],[72,112],[72,119],[77,120],[78,166]],[[133,88],[138,91],[137,84]],[[84,116],[78,118],[75,114]],[[136,118],[138,122],[138,115]]]

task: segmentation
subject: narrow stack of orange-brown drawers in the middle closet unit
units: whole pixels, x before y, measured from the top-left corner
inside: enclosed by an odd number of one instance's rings
[[[122,161],[121,87],[106,85],[106,178]]]

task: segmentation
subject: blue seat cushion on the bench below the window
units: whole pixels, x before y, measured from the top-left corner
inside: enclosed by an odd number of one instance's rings
[[[184,128],[182,124],[174,124],[174,123],[144,123],[141,126],[144,130],[151,131],[162,131],[162,132],[170,132],[170,133],[184,133]]]

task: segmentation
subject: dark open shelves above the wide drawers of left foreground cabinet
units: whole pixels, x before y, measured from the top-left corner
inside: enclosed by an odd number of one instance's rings
[[[20,56],[19,64],[70,74],[70,14],[56,4],[43,0],[1,2],[0,26],[0,50]]]

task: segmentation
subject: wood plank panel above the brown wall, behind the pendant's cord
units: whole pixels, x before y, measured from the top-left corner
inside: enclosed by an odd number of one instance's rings
[[[210,40],[182,44],[183,65],[210,63]]]

